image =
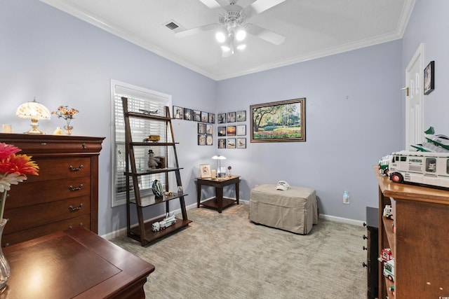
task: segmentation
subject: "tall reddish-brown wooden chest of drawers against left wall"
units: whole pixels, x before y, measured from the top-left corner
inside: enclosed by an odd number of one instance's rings
[[[104,138],[0,134],[39,165],[8,191],[1,246],[83,226],[98,233],[98,155]]]

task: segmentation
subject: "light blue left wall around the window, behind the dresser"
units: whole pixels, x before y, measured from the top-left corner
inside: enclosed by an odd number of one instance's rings
[[[173,104],[193,109],[215,109],[216,82],[179,64],[123,41],[38,0],[0,1],[0,123],[13,132],[29,130],[29,120],[15,117],[15,109],[36,99],[48,109],[62,104],[78,109],[74,134],[106,137],[100,153],[99,234],[126,225],[126,209],[111,208],[110,80],[115,79],[173,96]],[[61,119],[39,122],[51,134]],[[195,188],[191,165],[212,148],[196,146],[193,122],[175,122],[180,163],[189,204]],[[163,213],[163,207],[149,210]],[[151,215],[149,215],[151,216]]]

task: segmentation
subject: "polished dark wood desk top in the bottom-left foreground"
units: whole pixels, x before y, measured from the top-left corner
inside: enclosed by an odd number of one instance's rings
[[[145,298],[154,265],[84,228],[3,249],[11,278],[0,298]]]

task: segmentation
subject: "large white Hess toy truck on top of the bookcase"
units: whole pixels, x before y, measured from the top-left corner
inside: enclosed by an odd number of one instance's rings
[[[389,178],[395,183],[419,183],[449,188],[449,153],[392,153]]]

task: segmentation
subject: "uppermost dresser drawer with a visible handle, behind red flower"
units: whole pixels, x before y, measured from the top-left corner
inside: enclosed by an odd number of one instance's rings
[[[91,176],[91,158],[36,158],[38,176],[27,176],[27,182]]]

